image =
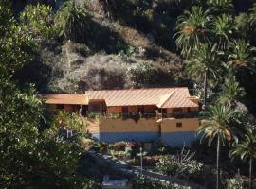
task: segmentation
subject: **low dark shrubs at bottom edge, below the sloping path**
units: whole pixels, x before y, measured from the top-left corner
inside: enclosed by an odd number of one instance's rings
[[[186,186],[180,186],[173,183],[163,183],[159,180],[151,180],[147,178],[137,178],[133,182],[134,189],[189,189]]]

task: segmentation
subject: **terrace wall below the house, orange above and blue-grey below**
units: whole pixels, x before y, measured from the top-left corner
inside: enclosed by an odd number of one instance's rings
[[[155,118],[141,118],[137,122],[133,119],[100,118],[90,122],[91,126],[98,124],[99,131],[93,135],[103,142],[152,142],[161,137],[162,142],[168,146],[190,146],[196,139],[195,130],[199,126],[197,118],[166,118],[160,123],[156,123]],[[182,126],[177,127],[177,123]]]

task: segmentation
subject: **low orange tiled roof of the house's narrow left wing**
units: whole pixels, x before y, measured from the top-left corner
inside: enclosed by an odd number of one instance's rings
[[[43,96],[46,99],[46,104],[88,104],[84,94],[46,94]]]

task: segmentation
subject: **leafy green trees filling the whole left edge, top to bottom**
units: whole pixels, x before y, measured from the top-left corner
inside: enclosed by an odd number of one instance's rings
[[[34,42],[0,2],[0,185],[1,188],[82,188],[77,172],[81,148],[46,123],[45,106],[33,86],[22,89],[12,75],[33,58]],[[6,20],[5,20],[6,19]]]

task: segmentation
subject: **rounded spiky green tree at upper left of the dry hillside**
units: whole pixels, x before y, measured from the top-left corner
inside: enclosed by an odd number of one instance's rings
[[[67,1],[57,12],[55,24],[60,27],[60,35],[66,40],[84,42],[86,31],[90,30],[88,17],[88,13],[82,6],[75,1]]]

